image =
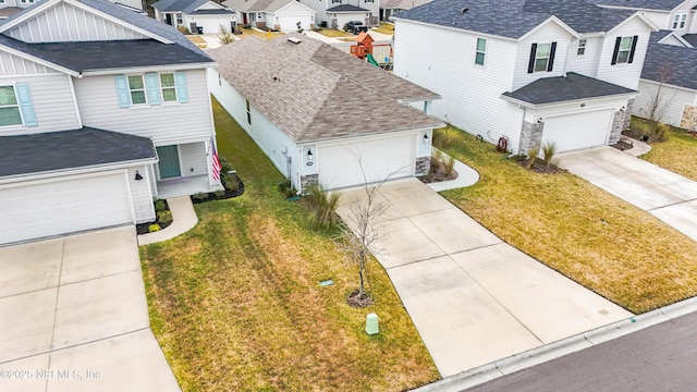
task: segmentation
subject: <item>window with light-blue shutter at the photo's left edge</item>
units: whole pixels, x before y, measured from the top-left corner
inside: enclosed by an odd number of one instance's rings
[[[38,125],[26,83],[0,86],[0,126],[12,125]]]

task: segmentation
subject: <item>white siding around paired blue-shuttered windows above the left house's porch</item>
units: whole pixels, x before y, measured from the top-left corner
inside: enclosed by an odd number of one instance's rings
[[[206,71],[186,71],[188,102],[121,108],[114,75],[75,81],[83,123],[102,130],[151,137],[158,145],[206,139],[213,130]]]

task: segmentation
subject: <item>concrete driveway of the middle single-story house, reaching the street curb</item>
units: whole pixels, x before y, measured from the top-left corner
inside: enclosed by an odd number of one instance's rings
[[[352,224],[362,200],[363,188],[344,191],[337,211]],[[378,200],[388,209],[374,253],[443,377],[632,317],[416,179],[383,184]]]

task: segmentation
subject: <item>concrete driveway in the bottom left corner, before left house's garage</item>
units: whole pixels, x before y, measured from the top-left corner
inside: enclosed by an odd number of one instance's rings
[[[0,247],[0,391],[179,391],[135,228]]]

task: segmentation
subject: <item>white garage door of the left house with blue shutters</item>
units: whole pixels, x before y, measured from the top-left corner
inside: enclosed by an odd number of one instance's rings
[[[0,188],[0,244],[133,222],[124,174]]]

